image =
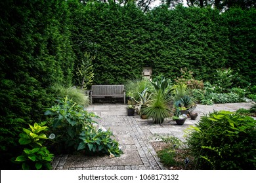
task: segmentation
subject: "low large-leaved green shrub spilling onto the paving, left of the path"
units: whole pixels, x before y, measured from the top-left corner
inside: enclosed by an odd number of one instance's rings
[[[110,154],[110,157],[120,156],[121,148],[112,136],[113,133],[109,129],[96,129],[95,125],[87,125],[80,134],[82,142],[79,143],[77,150]]]

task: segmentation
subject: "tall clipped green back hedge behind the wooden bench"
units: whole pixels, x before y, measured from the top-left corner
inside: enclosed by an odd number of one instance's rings
[[[143,14],[133,3],[78,4],[72,37],[77,65],[85,51],[96,56],[95,84],[121,84],[141,76],[145,66],[154,76],[169,78],[187,67],[205,81],[213,81],[217,69],[230,67],[241,77],[238,86],[255,84],[255,71],[249,69],[255,68],[255,8],[220,13],[161,5]]]

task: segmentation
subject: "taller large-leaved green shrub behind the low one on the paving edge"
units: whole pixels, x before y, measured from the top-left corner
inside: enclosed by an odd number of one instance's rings
[[[47,108],[45,115],[51,116],[49,122],[56,134],[53,146],[57,153],[73,152],[79,144],[79,135],[88,124],[95,123],[94,113],[87,112],[68,97],[58,99],[58,104]]]

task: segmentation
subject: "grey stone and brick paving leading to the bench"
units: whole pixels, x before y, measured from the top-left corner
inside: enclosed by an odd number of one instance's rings
[[[113,131],[123,154],[118,158],[109,156],[85,156],[83,154],[62,154],[53,161],[53,169],[70,170],[161,170],[165,169],[160,163],[154,148],[150,144],[158,141],[155,134],[173,135],[184,140],[184,129],[195,125],[200,116],[213,110],[235,111],[238,108],[250,108],[251,103],[236,103],[205,106],[198,105],[194,112],[199,116],[196,120],[188,118],[184,125],[177,125],[171,119],[163,124],[154,124],[152,120],[142,120],[139,115],[127,116],[126,105],[96,104],[87,107],[87,111],[95,112],[100,118],[95,121]]]

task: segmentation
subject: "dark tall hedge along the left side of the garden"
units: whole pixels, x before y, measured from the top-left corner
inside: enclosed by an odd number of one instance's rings
[[[51,86],[71,84],[74,53],[64,1],[4,0],[0,7],[0,161],[8,169],[22,127],[43,120],[53,103]]]

